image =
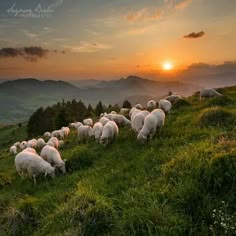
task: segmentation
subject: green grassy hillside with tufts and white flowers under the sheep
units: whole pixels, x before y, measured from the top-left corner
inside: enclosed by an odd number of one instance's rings
[[[23,128],[1,129],[0,235],[235,234],[236,87],[221,92],[178,102],[145,145],[128,128],[106,148],[70,134],[68,174],[36,186],[8,153]]]

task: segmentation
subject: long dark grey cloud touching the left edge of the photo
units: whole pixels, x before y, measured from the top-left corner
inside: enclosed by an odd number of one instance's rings
[[[23,48],[1,48],[0,58],[22,57],[28,61],[37,61],[40,58],[46,58],[50,53],[58,53],[57,50],[48,50],[42,47],[23,47]],[[64,53],[64,51],[62,51]]]

